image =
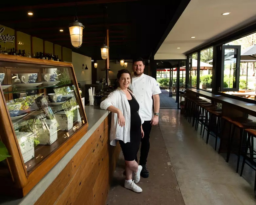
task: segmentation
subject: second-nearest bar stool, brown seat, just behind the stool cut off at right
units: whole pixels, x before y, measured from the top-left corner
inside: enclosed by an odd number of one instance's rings
[[[227,149],[226,162],[229,161],[231,147],[232,147],[234,135],[235,135],[235,128],[239,129],[239,150],[238,150],[238,155],[237,155],[237,167],[236,167],[236,172],[238,173],[244,130],[245,129],[256,129],[256,122],[254,122],[248,118],[244,118],[244,117],[238,117],[238,118],[223,117],[223,119],[225,119],[226,121],[231,123],[231,131],[229,133],[229,139],[228,139],[229,144],[228,144],[228,149]],[[247,150],[246,150],[246,152],[247,152]]]

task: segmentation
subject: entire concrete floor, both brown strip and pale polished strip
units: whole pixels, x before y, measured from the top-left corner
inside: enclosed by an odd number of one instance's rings
[[[160,109],[153,126],[148,157],[149,178],[141,178],[140,194],[123,187],[124,160],[120,154],[106,205],[255,205],[255,171],[245,165],[236,173],[236,156],[229,163],[214,150],[215,138],[202,139],[177,109]],[[219,146],[219,144],[218,144]],[[240,165],[241,168],[241,165]],[[240,170],[239,170],[240,173]]]

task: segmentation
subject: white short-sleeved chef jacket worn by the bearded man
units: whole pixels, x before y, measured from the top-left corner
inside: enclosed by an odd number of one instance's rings
[[[161,93],[156,79],[144,73],[140,77],[133,76],[129,88],[137,97],[142,119],[151,121],[154,116],[152,95]]]

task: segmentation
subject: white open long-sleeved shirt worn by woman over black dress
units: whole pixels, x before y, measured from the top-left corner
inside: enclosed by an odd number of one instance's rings
[[[128,91],[136,99],[135,95],[128,89]],[[130,142],[130,127],[131,127],[131,111],[130,105],[124,91],[117,87],[116,90],[111,92],[108,97],[100,103],[100,108],[106,110],[110,105],[118,108],[124,116],[125,126],[121,127],[118,124],[117,113],[112,113],[111,116],[111,128],[110,128],[110,144],[116,146],[117,140],[122,140],[124,143]],[[138,111],[139,113],[139,111]],[[139,113],[140,116],[140,113]],[[141,124],[143,120],[140,116]]]

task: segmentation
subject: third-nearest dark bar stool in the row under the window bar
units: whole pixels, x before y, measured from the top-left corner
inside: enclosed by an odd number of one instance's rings
[[[216,107],[207,107],[207,108],[205,108],[205,110],[208,111],[208,113],[209,113],[209,123],[208,123],[208,128],[207,128],[206,144],[208,144],[209,137],[210,137],[210,132],[211,131],[214,132],[215,129],[216,129],[216,133],[215,133],[215,151],[216,151],[219,131],[221,130],[221,120],[220,119],[221,119],[221,115],[222,115],[222,109],[216,106]],[[213,125],[212,124],[213,116],[217,120],[217,123],[215,122],[216,127],[212,127],[212,125]],[[214,135],[212,135],[212,136],[214,136]]]

